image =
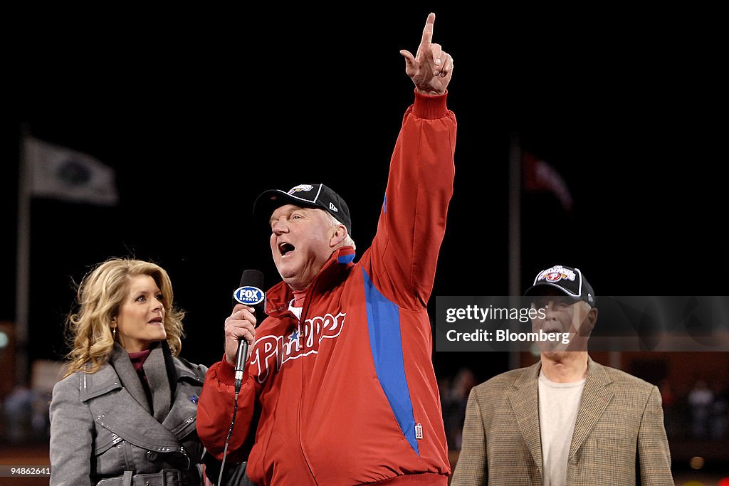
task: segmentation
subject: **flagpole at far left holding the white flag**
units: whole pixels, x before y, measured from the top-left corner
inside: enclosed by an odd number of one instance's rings
[[[28,383],[28,302],[31,270],[31,170],[26,162],[28,126],[20,128],[15,261],[15,380]]]

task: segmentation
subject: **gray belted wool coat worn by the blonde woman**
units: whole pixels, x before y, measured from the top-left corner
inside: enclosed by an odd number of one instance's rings
[[[184,471],[200,485],[204,448],[195,430],[207,367],[172,358],[174,398],[161,346],[144,361],[152,409],[126,351],[114,346],[97,372],[76,372],[53,387],[50,403],[50,485],[95,485],[100,479]],[[214,460],[214,458],[210,458]]]

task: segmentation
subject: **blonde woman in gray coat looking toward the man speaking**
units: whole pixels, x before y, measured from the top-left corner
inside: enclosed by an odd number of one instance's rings
[[[207,367],[178,356],[173,302],[154,263],[114,258],[85,275],[50,404],[51,485],[205,484],[203,464],[217,463],[195,431]]]

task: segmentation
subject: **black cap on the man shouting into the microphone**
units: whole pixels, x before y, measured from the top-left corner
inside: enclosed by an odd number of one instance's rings
[[[253,215],[265,218],[268,222],[273,211],[286,204],[323,209],[344,224],[349,235],[352,234],[352,218],[347,203],[324,184],[299,184],[288,191],[268,189],[261,192],[253,203]]]

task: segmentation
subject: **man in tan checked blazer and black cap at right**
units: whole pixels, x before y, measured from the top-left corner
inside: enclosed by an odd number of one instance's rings
[[[451,486],[674,486],[658,388],[588,356],[598,310],[582,272],[542,270],[525,295],[544,310],[532,329],[569,344],[472,389]]]

